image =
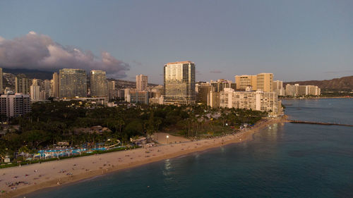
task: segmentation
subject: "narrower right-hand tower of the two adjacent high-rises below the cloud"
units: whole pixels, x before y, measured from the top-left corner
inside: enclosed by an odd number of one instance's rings
[[[108,96],[107,78],[105,71],[90,71],[90,95],[91,97],[107,97]]]

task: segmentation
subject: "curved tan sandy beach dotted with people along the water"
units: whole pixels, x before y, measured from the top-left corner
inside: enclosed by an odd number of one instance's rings
[[[21,167],[2,168],[0,169],[0,191],[4,190],[5,192],[0,192],[0,197],[16,197],[45,187],[68,184],[153,161],[171,159],[196,151],[221,147],[225,144],[252,140],[253,133],[258,132],[268,125],[283,121],[285,121],[285,118],[273,118],[261,121],[253,126],[253,128],[242,130],[235,135],[226,135],[208,140],[164,144],[157,147],[116,151],[107,154],[35,163]],[[162,134],[162,137],[165,136],[166,134]],[[161,140],[161,142],[164,141]],[[170,141],[177,142],[172,139]]]

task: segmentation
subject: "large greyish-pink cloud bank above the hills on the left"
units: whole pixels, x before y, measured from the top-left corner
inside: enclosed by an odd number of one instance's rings
[[[130,69],[128,63],[117,60],[107,51],[102,51],[100,57],[97,57],[92,51],[64,47],[49,36],[35,32],[15,39],[0,37],[0,66],[38,70],[59,68],[105,70],[111,78],[125,78],[126,70]]]

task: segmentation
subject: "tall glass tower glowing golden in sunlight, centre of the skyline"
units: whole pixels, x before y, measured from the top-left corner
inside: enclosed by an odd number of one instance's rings
[[[195,63],[165,64],[164,104],[193,104],[195,99]]]

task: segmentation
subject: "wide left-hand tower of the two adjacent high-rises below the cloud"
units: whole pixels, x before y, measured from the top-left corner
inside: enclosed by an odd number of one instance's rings
[[[59,72],[59,97],[87,97],[87,75],[82,69],[61,69]]]

